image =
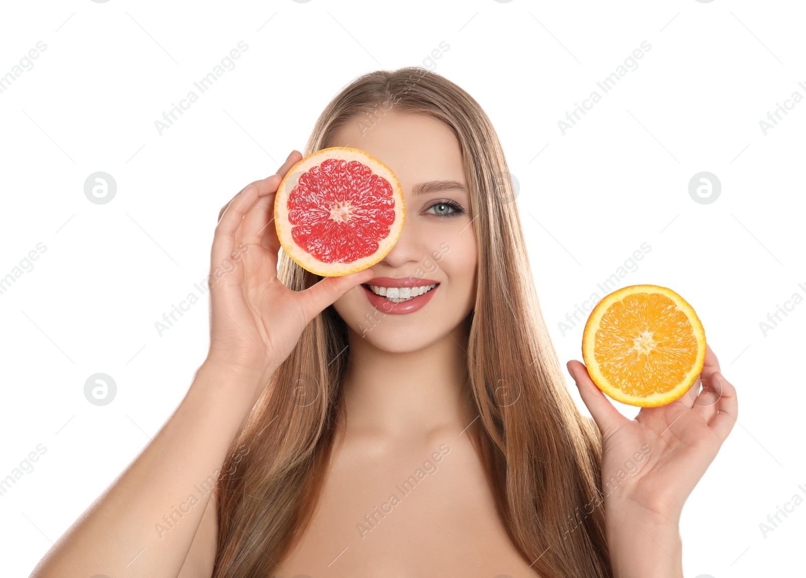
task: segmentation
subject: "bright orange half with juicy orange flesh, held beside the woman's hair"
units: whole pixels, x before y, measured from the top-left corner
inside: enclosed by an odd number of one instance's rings
[[[679,399],[705,362],[705,332],[683,297],[658,285],[630,285],[605,296],[582,336],[592,382],[611,398],[638,407]]]

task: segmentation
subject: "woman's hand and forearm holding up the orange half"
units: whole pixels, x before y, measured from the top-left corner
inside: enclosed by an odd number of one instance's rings
[[[588,376],[568,361],[602,436],[605,526],[616,578],[683,578],[679,533],[683,503],[733,429],[736,390],[706,346],[697,383],[682,398],[621,415]]]

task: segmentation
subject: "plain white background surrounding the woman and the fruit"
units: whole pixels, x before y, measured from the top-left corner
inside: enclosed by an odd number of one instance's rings
[[[759,126],[794,91],[806,97],[800,2],[71,0],[0,10],[0,75],[47,45],[0,93],[0,276],[47,247],[0,295],[0,477],[47,448],[0,497],[4,575],[27,575],[185,394],[206,353],[206,296],[162,336],[155,322],[199,294],[193,283],[204,287],[218,209],[301,150],[355,76],[405,65],[447,76],[492,118],[563,363],[581,359],[582,325],[563,335],[559,321],[644,242],[650,252],[622,284],[671,287],[703,321],[740,409],[683,510],[685,576],[803,572],[806,504],[766,538],[759,529],[806,493],[806,304],[766,335],[759,326],[794,293],[806,297],[806,102],[766,135]],[[154,122],[242,40],[235,68],[160,135]],[[638,68],[563,135],[558,121],[645,40]],[[424,63],[441,41],[449,50]],[[95,171],[117,183],[109,204],[85,197]],[[713,204],[688,194],[700,171],[721,181]],[[98,372],[118,386],[105,407],[83,394]]]

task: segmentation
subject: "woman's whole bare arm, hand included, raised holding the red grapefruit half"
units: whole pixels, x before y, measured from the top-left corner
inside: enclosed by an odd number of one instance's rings
[[[299,160],[292,151],[275,175],[247,185],[222,208],[210,252],[206,360],[154,439],[60,537],[31,578],[177,578],[180,571],[210,576],[214,508],[200,532],[206,538],[193,539],[235,434],[305,326],[375,275],[365,269],[328,277],[304,291],[277,279],[274,198]]]

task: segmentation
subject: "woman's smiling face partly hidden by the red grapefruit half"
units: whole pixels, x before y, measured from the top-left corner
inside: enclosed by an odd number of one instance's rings
[[[476,233],[459,142],[434,118],[392,109],[372,126],[347,122],[329,146],[358,148],[388,165],[403,187],[406,211],[397,243],[372,266],[375,279],[337,300],[336,312],[358,339],[389,352],[414,351],[445,337],[476,302]],[[436,287],[395,304],[371,295],[369,284]],[[405,290],[397,295],[401,299]]]

